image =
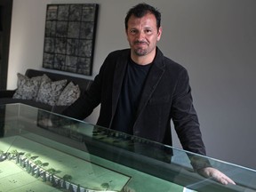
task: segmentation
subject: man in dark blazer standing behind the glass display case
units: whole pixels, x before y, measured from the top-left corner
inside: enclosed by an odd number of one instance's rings
[[[126,15],[125,31],[131,49],[111,52],[90,90],[64,115],[84,119],[100,104],[100,126],[170,146],[172,119],[182,147],[205,155],[188,72],[156,46],[162,35],[161,13],[138,4]],[[223,184],[235,184],[210,166],[196,171]]]

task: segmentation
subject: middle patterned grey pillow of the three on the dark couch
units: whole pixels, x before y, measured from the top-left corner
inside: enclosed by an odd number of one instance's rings
[[[55,106],[66,84],[66,79],[55,82],[42,82],[37,93],[36,102]]]

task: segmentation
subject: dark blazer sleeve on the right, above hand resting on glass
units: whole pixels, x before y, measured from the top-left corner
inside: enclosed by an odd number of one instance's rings
[[[180,71],[172,103],[172,121],[182,148],[196,154],[206,155],[198,117],[193,106],[188,72]]]

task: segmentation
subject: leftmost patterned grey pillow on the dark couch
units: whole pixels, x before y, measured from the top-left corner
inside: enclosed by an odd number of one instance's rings
[[[13,99],[36,100],[36,95],[42,81],[51,81],[46,75],[29,78],[18,73],[17,76],[17,90],[12,96]]]

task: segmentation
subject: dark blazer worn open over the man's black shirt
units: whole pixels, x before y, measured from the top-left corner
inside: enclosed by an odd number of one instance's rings
[[[84,119],[100,104],[97,124],[111,127],[130,55],[130,49],[111,52],[89,91],[84,92],[64,115]],[[172,119],[182,147],[205,155],[188,84],[188,72],[178,63],[164,57],[158,48],[136,116],[134,135],[172,146]]]

